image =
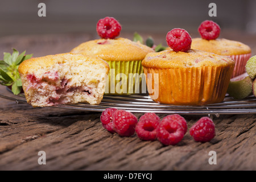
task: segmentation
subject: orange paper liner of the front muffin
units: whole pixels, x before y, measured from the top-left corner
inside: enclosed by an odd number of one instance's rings
[[[172,105],[207,105],[224,100],[233,68],[234,66],[230,65],[143,69],[148,93],[155,102]]]

